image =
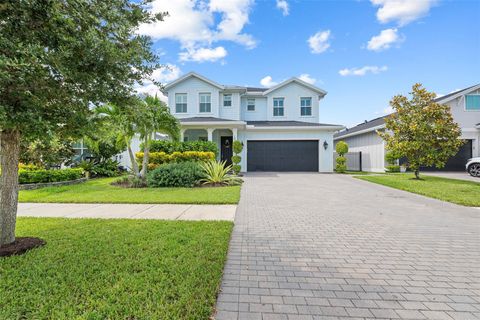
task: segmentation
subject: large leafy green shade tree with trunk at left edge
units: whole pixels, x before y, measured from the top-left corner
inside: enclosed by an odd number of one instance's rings
[[[0,245],[15,241],[21,141],[80,137],[91,107],[121,103],[157,57],[135,32],[145,1],[0,3]]]

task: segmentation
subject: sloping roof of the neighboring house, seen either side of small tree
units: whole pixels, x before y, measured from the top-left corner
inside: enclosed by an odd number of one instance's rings
[[[472,91],[475,91],[475,90],[478,90],[478,89],[480,89],[480,84],[476,84],[476,85],[470,86],[470,87],[465,88],[465,89],[457,90],[457,91],[449,93],[447,95],[435,98],[435,99],[433,99],[433,101],[435,101],[437,103],[441,103],[441,104],[447,103],[447,102],[452,101],[452,100],[454,100],[454,99],[456,99],[456,98],[458,98],[458,97],[460,97],[464,94],[468,94],[469,92],[472,92]],[[377,129],[381,129],[381,128],[385,127],[385,118],[387,118],[390,115],[391,114],[388,114],[388,115],[385,115],[383,117],[375,118],[375,119],[370,120],[370,121],[365,120],[365,122],[360,123],[360,124],[356,125],[355,127],[352,127],[350,129],[347,128],[343,131],[335,133],[335,135],[333,137],[334,137],[334,139],[339,139],[339,138],[355,136],[355,135],[358,135],[358,134],[361,134],[361,133],[366,133],[366,132],[374,131],[374,130],[377,130]]]

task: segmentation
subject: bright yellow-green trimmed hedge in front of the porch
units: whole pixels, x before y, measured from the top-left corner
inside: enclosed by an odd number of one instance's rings
[[[137,152],[135,154],[137,162],[142,163],[143,152]],[[186,152],[173,152],[167,154],[165,152],[150,152],[148,161],[148,168],[155,169],[159,165],[166,163],[178,163],[187,161],[208,161],[215,159],[215,153],[203,152],[203,151],[186,151]]]

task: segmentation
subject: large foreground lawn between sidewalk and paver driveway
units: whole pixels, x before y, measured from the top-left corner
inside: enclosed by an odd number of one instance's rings
[[[47,245],[0,258],[0,319],[208,319],[230,222],[20,218]]]

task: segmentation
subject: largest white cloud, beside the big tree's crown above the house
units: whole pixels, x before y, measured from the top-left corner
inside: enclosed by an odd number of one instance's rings
[[[243,27],[249,22],[252,5],[253,0],[210,0],[208,3],[203,0],[154,0],[149,6],[150,11],[167,11],[169,16],[164,21],[141,25],[138,33],[154,40],[171,39],[180,42],[183,49],[180,58],[183,57],[183,61],[197,61],[186,57],[201,49],[217,50],[216,53],[219,54],[220,47],[211,49],[212,44],[218,41],[233,41],[253,48],[256,45],[255,39],[242,33]],[[217,15],[220,15],[220,19],[216,19]]]

